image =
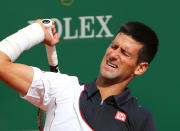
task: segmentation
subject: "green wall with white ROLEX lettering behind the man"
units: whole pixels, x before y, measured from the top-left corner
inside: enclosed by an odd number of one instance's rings
[[[158,131],[180,130],[180,17],[178,0],[1,0],[0,40],[39,18],[54,18],[62,73],[91,82],[121,24],[139,21],[153,28],[160,46],[148,71],[129,85],[132,95],[154,116]],[[48,71],[44,45],[16,61]],[[0,131],[35,131],[37,107],[0,81]]]

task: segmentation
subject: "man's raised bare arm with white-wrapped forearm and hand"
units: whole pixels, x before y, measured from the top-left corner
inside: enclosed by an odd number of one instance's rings
[[[0,42],[0,80],[11,88],[25,95],[32,83],[33,69],[30,66],[13,63],[24,51],[45,43],[53,46],[59,42],[53,23],[53,38],[48,30],[37,20],[35,24],[27,26],[17,33]]]

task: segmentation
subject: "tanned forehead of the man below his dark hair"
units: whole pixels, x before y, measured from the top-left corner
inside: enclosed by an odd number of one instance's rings
[[[118,33],[115,39],[112,41],[112,44],[116,44],[129,51],[139,51],[143,46],[140,42],[134,40],[131,36],[124,33]]]

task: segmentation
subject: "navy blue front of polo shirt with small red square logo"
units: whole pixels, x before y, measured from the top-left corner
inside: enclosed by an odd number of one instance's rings
[[[80,111],[95,131],[156,131],[152,115],[131,96],[129,88],[102,102],[96,81],[86,84],[80,96]]]

